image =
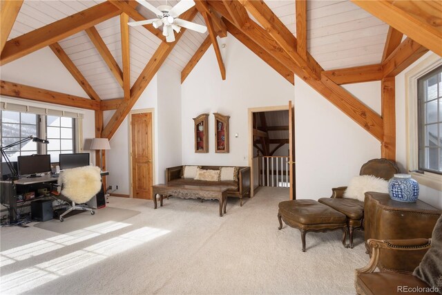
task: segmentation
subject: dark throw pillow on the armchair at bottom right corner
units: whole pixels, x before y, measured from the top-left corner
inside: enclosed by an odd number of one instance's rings
[[[417,276],[432,287],[442,289],[442,217],[436,222],[431,236],[431,247],[423,256],[421,263],[414,269]]]

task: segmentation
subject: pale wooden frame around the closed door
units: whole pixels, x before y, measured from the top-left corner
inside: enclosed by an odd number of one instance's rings
[[[155,108],[140,108],[138,110],[132,110],[128,113],[128,158],[129,158],[129,198],[133,198],[133,175],[132,175],[132,115],[140,113],[151,113],[152,114],[152,184],[155,185],[156,180],[156,157],[155,157]],[[152,196],[153,198],[153,196]]]

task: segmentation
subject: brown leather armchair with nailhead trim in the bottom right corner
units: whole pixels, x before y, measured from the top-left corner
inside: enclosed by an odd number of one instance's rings
[[[356,269],[354,287],[357,294],[403,294],[404,288],[431,288],[423,280],[412,275],[419,265],[427,249],[430,249],[431,239],[415,238],[409,240],[368,240],[372,247],[372,258],[367,266]],[[387,249],[387,251],[383,251]],[[395,260],[395,269],[383,269],[374,272],[378,260],[391,258]],[[390,257],[384,257],[390,256]],[[398,266],[401,265],[400,268]],[[413,292],[413,294],[421,292]]]

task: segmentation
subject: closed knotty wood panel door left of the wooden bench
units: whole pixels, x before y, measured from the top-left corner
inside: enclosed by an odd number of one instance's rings
[[[152,113],[131,115],[132,197],[152,199]]]

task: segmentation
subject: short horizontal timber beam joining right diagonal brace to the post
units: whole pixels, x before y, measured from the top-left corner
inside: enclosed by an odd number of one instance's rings
[[[355,66],[353,68],[325,70],[322,74],[327,76],[336,84],[342,85],[380,81],[383,78],[384,72],[381,64],[372,64],[369,66]]]

